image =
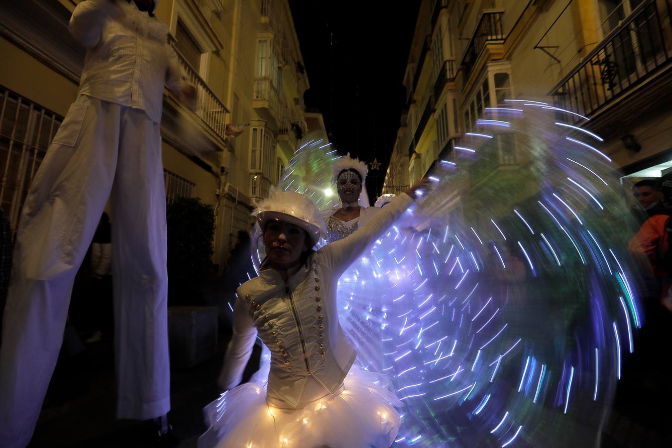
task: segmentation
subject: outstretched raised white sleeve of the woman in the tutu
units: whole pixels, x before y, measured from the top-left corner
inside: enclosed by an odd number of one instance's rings
[[[335,273],[343,273],[368,245],[376,240],[411,205],[413,199],[406,193],[398,195],[390,205],[376,212],[366,224],[342,240],[327,244],[319,250],[323,263]]]

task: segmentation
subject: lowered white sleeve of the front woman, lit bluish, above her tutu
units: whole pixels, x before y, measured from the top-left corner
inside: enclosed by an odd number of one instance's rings
[[[257,328],[247,313],[247,304],[239,297],[233,307],[233,336],[226,347],[224,365],[217,381],[222,390],[235,388],[243,379],[256,337]]]

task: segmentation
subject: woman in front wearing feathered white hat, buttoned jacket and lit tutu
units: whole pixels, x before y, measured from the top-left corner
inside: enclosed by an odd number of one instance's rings
[[[343,240],[314,250],[323,220],[310,199],[271,191],[255,210],[266,258],[238,288],[233,338],[206,406],[200,447],[388,447],[400,419],[384,375],[353,367],[357,356],[337,317],[341,273],[411,204],[420,181]],[[259,337],[270,368],[237,386]],[[237,387],[236,387],[237,386]]]

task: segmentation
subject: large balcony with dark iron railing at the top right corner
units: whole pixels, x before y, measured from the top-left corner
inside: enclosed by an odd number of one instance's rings
[[[644,1],[552,89],[554,101],[593,117],[667,71],[672,59],[670,17],[669,2]],[[667,89],[646,89],[644,96],[637,95],[638,101],[645,104],[661,91]],[[569,118],[575,123],[583,121],[577,116]]]

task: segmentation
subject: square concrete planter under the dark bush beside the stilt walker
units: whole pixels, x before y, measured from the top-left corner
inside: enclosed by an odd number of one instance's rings
[[[168,307],[171,367],[194,367],[216,353],[217,314],[216,306]]]

